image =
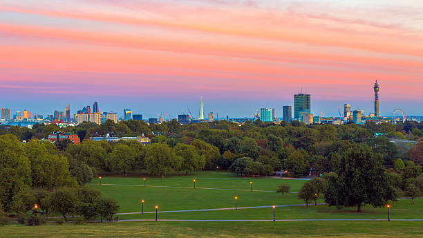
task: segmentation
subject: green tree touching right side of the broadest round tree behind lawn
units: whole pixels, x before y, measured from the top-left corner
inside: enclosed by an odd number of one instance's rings
[[[175,147],[175,153],[182,158],[180,170],[188,172],[202,170],[205,166],[205,157],[200,156],[196,147],[192,145],[178,144]]]

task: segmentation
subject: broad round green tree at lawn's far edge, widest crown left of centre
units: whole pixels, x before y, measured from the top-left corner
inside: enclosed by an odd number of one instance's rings
[[[178,171],[182,158],[176,156],[173,149],[167,144],[154,143],[146,146],[145,168],[149,174],[164,176]]]

